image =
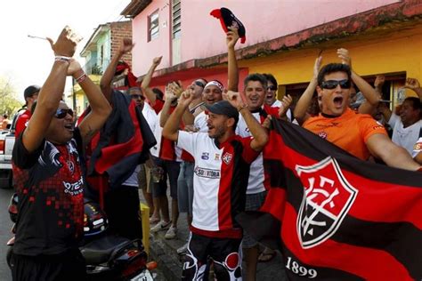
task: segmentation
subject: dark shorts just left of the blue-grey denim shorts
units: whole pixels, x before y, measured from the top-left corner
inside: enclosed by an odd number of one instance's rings
[[[170,196],[177,199],[177,178],[180,173],[180,162],[163,160],[158,157],[152,157],[155,165],[164,170],[164,176],[159,182],[152,183],[152,197],[165,197],[167,190],[167,176],[170,182]]]

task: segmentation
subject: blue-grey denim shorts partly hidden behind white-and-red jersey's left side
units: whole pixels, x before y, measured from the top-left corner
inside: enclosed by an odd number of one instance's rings
[[[192,214],[193,205],[193,162],[182,162],[177,179],[177,204],[180,213]]]

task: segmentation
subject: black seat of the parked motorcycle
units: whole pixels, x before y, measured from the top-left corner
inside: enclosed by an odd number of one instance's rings
[[[109,261],[112,253],[130,244],[132,244],[132,240],[125,237],[104,236],[79,249],[87,265],[97,265]]]

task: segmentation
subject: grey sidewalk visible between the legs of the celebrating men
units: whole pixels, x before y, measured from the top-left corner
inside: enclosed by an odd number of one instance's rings
[[[140,192],[140,198],[141,202],[145,204],[142,192]],[[189,236],[189,228],[185,213],[180,214],[177,227],[177,237],[172,240],[164,238],[166,231],[150,234],[151,260],[158,262],[158,269],[163,272],[166,280],[171,281],[180,280],[182,277],[183,257],[180,257],[176,251],[186,243]],[[243,262],[243,269],[245,269],[245,267],[245,262]],[[258,262],[256,280],[287,280],[280,253],[277,253],[277,256],[272,261]]]

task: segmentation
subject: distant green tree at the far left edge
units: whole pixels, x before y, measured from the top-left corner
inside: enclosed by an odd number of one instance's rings
[[[16,98],[16,90],[11,79],[0,77],[0,115],[7,114],[12,118],[21,107],[22,102]]]

